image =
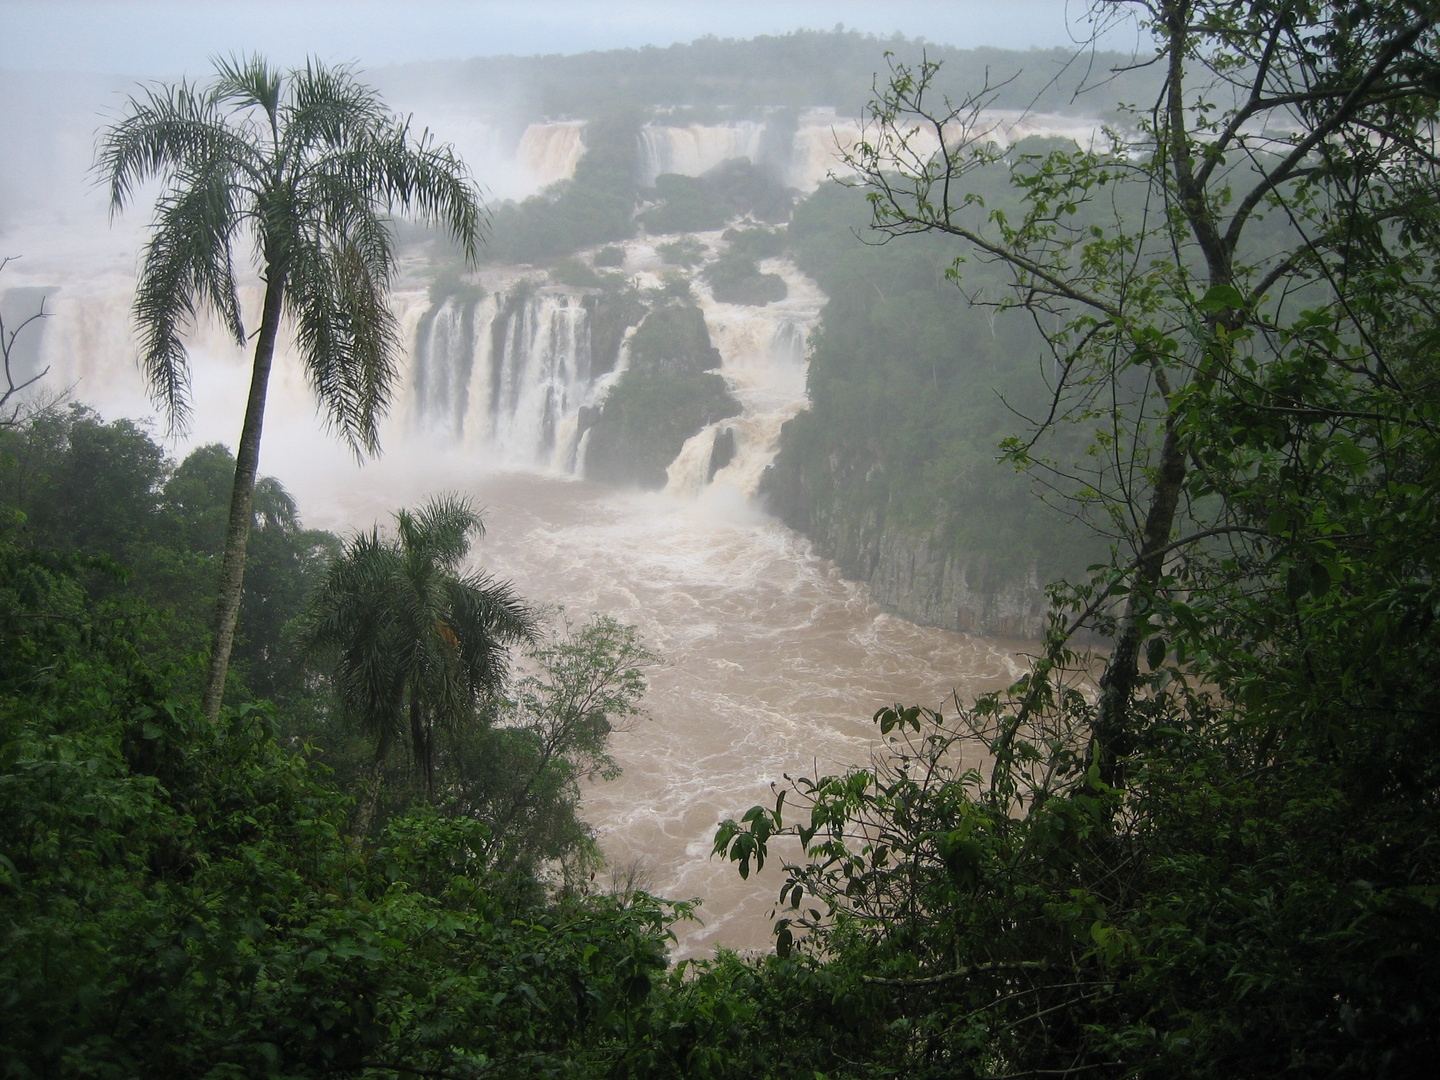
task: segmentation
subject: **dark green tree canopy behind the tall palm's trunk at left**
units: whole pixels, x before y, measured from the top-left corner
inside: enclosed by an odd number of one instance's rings
[[[233,477],[223,446],[202,446],[176,465],[132,420],[107,423],[81,405],[0,431],[0,507],[19,514],[6,527],[29,550],[122,567],[79,580],[96,599],[128,596],[163,613],[166,632],[135,642],[153,660],[179,661],[207,642]],[[308,690],[285,625],[338,541],[304,528],[272,477],[255,485],[253,513],[236,685],[300,704]]]

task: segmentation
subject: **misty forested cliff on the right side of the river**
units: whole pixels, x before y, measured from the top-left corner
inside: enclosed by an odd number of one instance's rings
[[[1022,150],[1020,151],[1022,153]],[[991,190],[1005,186],[996,170]],[[1043,416],[1043,347],[1030,320],[968,305],[946,269],[953,251],[916,238],[858,239],[863,194],[821,187],[788,229],[801,269],[829,302],[811,343],[809,409],[785,426],[766,478],[772,507],[851,573],[881,534],[933,537],[982,583],[1081,570],[1102,550],[996,465],[1020,416]],[[968,295],[998,295],[1002,275],[966,266]],[[861,575],[864,576],[864,575]]]

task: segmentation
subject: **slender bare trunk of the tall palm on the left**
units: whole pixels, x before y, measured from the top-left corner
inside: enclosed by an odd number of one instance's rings
[[[272,272],[265,284],[265,308],[261,315],[259,337],[255,341],[251,393],[245,405],[245,423],[240,426],[240,445],[235,452],[230,524],[225,531],[220,590],[215,598],[210,678],[204,688],[204,716],[210,723],[216,723],[220,719],[225,675],[230,668],[235,625],[240,618],[240,596],[245,585],[245,546],[251,539],[251,524],[255,520],[255,475],[261,461],[261,429],[265,426],[265,392],[269,386],[271,363],[275,359],[275,337],[279,333],[284,294],[284,274]]]

